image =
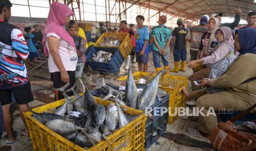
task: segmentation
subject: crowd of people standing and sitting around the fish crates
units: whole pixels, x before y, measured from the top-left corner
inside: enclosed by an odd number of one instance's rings
[[[24,35],[18,27],[8,23],[11,7],[9,0],[0,2],[0,28],[5,29],[0,31],[0,138],[4,127],[7,131],[7,144],[14,143],[18,134],[17,130],[12,129],[12,95],[23,121],[22,113],[29,110],[28,103],[34,100],[24,63],[27,57],[32,61],[43,51],[48,55],[48,70],[53,87],[57,89],[70,83],[69,89],[76,82],[80,83],[88,49],[85,33],[75,21],[70,20],[74,13],[67,5],[53,2],[43,33],[40,26],[35,25],[35,31],[26,27]],[[224,24],[221,24],[222,13],[214,13],[210,17],[203,15],[199,25],[190,30],[183,27],[182,19],[178,19],[178,27],[173,31],[165,26],[165,15],[159,17],[159,25],[151,30],[144,25],[145,18],[142,15],[136,17],[137,27],[130,24],[128,28],[127,22],[123,20],[118,32],[129,33],[133,44],[124,68],[129,68],[129,62],[137,62],[139,71],[148,71],[149,53],[152,51],[156,72],[162,70],[161,59],[164,69],[169,71],[167,54],[172,51],[175,65],[171,72],[184,72],[186,45],[189,42],[190,62],[187,66],[193,68],[194,73],[189,77],[193,92],[183,88],[188,104],[206,107],[203,112],[209,107],[214,107],[215,111],[230,108],[244,111],[256,103],[256,11],[248,13],[246,27],[233,30],[239,24],[240,14],[238,8],[235,21]],[[68,28],[64,28],[64,25]],[[105,32],[117,32],[117,29],[106,31],[101,22],[97,27],[96,39]],[[149,46],[150,38],[152,48]],[[77,89],[81,91],[81,85],[77,85]],[[55,100],[64,98],[59,91],[55,94]],[[188,132],[206,138],[216,123],[217,118],[214,116],[199,116],[198,127],[189,127]]]

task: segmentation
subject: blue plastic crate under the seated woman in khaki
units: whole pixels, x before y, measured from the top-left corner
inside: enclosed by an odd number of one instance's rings
[[[217,112],[217,115],[219,115],[221,121],[225,122],[240,113],[242,113],[242,112],[241,111],[233,111],[232,113],[225,113],[225,114],[220,114]],[[244,115],[244,117],[242,117],[241,119],[235,121],[234,125],[235,126],[243,125],[246,121],[252,121],[255,119],[256,119],[256,113],[248,113],[248,114]]]

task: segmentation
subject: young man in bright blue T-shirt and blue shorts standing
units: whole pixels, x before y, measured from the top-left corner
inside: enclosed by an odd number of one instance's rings
[[[136,61],[138,62],[139,71],[146,72],[148,70],[149,62],[149,28],[143,25],[145,21],[144,16],[138,15],[136,17],[137,32],[136,32]]]

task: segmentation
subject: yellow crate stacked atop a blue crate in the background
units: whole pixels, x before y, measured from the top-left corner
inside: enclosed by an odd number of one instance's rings
[[[101,46],[104,44],[105,39],[110,40],[120,40],[119,47],[112,47],[112,48],[119,48],[120,53],[122,54],[124,59],[127,59],[128,55],[133,49],[132,41],[130,40],[129,33],[103,33],[101,37],[95,43],[95,47],[110,47],[110,46]],[[110,47],[111,48],[111,47]]]

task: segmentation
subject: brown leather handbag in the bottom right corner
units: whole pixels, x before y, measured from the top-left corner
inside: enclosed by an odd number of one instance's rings
[[[222,150],[256,150],[256,124],[233,126],[233,123],[242,118],[256,103],[232,119],[218,123],[208,137],[214,148]]]

